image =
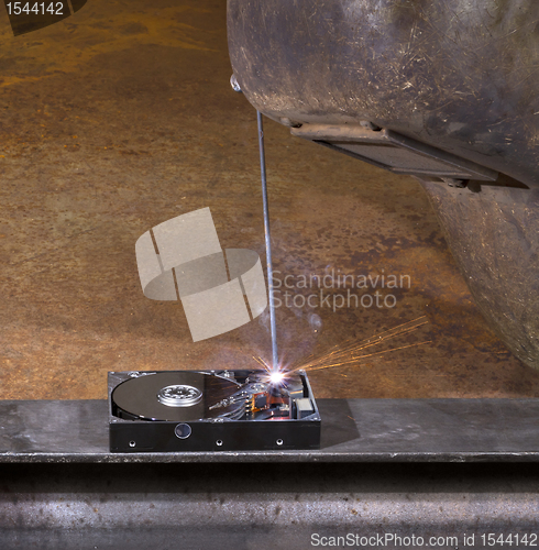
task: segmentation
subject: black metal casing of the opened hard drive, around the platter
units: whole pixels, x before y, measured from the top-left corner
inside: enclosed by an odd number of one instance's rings
[[[200,374],[222,376],[232,373],[239,380],[252,375],[267,374],[264,371],[196,371]],[[318,449],[320,447],[320,415],[305,373],[295,374],[300,383],[301,405],[309,399],[312,413],[302,418],[278,419],[219,419],[196,420],[146,420],[120,418],[112,393],[133,376],[152,376],[157,373],[194,373],[194,371],[158,372],[110,372],[109,386],[109,437],[111,452],[209,452],[209,451],[267,451]],[[292,397],[290,397],[292,399]],[[305,407],[298,407],[304,409]],[[292,408],[290,408],[292,410]],[[298,413],[304,415],[304,413]]]

